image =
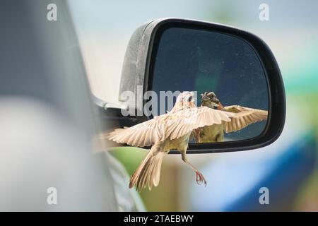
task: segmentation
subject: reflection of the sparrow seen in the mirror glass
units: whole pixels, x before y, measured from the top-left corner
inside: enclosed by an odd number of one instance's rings
[[[211,109],[235,113],[230,121],[225,121],[223,124],[213,124],[204,126],[203,128],[195,129],[193,136],[197,143],[214,143],[221,142],[224,139],[224,132],[230,133],[239,131],[249,124],[257,121],[266,120],[268,112],[261,109],[242,107],[240,105],[231,105],[223,107],[216,94],[212,91],[201,93],[201,106],[206,106]]]

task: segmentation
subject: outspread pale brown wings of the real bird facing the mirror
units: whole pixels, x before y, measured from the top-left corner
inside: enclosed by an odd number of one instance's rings
[[[117,143],[143,147],[150,146],[165,136],[180,138],[192,130],[230,121],[235,114],[208,107],[193,107],[167,113],[126,129],[116,129],[107,138]]]

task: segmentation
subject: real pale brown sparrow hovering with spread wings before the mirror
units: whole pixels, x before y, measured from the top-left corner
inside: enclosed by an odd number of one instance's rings
[[[178,95],[170,112],[135,126],[115,129],[107,133],[107,138],[136,147],[151,146],[151,150],[131,175],[129,188],[136,186],[136,190],[141,191],[146,186],[149,190],[158,186],[163,157],[172,149],[179,150],[182,160],[194,170],[196,183],[204,183],[206,186],[203,174],[187,160],[189,136],[194,129],[230,122],[234,116],[232,112],[197,107],[194,104],[194,92],[184,91]]]

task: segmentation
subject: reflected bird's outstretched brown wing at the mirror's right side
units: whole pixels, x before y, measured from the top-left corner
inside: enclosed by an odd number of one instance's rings
[[[267,111],[239,105],[227,106],[224,107],[223,110],[236,113],[234,117],[231,117],[230,121],[224,122],[224,130],[226,133],[238,131],[257,121],[266,120],[268,116]]]

